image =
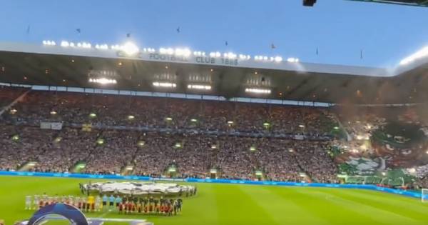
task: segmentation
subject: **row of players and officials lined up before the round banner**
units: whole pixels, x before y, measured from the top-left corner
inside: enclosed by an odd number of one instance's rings
[[[159,199],[138,196],[26,196],[27,210],[38,210],[55,203],[75,206],[84,212],[117,211],[119,214],[158,214],[172,216],[180,213],[182,199]]]

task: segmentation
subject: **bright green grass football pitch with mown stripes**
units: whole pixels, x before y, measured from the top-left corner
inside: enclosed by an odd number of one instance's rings
[[[26,195],[78,195],[88,179],[0,176],[0,219],[28,219]],[[354,189],[196,184],[198,194],[184,199],[178,216],[88,217],[140,218],[156,225],[196,224],[428,224],[428,204],[394,194]]]

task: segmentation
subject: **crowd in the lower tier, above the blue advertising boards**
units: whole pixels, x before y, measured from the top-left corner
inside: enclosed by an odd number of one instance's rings
[[[42,130],[1,126],[0,169],[16,170],[29,162],[30,171],[71,172],[79,162],[91,174],[131,173],[168,176],[174,165],[178,177],[264,179],[275,181],[335,181],[336,166],[325,154],[328,143],[236,136],[142,133],[138,131],[65,128]]]

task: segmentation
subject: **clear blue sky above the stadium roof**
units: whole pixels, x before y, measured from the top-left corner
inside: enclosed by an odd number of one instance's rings
[[[345,0],[1,0],[0,9],[0,41],[121,44],[131,33],[141,47],[364,66],[392,66],[428,45],[428,8]]]

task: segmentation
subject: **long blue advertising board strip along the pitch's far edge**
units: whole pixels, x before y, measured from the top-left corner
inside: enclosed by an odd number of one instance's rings
[[[61,173],[41,173],[41,172],[17,172],[17,171],[0,171],[0,176],[47,176],[47,177],[69,177],[81,179],[132,179],[138,181],[171,181],[171,179],[151,178],[148,176],[121,176],[121,175],[92,175],[92,174],[61,174]],[[404,191],[399,189],[389,189],[372,184],[320,184],[320,183],[295,183],[295,182],[277,182],[277,181],[243,181],[228,179],[173,179],[173,181],[185,181],[190,183],[218,183],[218,184],[252,184],[252,185],[273,185],[273,186],[311,186],[327,187],[340,189],[366,189],[373,191],[383,191],[391,194],[399,194],[413,198],[422,198],[420,192]]]

